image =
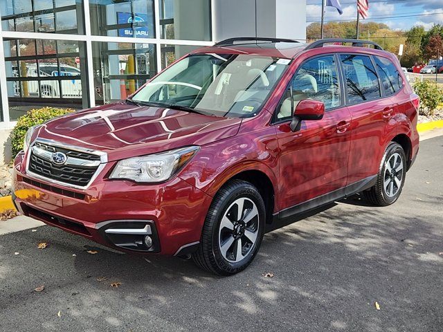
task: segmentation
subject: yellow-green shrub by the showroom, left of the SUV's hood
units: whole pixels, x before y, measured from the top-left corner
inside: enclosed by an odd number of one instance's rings
[[[37,124],[42,124],[57,116],[64,116],[64,114],[73,112],[73,109],[56,109],[53,107],[44,107],[42,109],[31,109],[24,116],[21,116],[17,120],[17,124],[11,132],[11,147],[12,156],[15,156],[23,149],[23,140],[26,135],[26,131],[30,127]]]

